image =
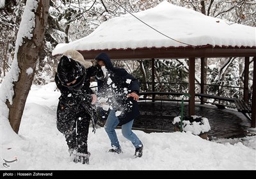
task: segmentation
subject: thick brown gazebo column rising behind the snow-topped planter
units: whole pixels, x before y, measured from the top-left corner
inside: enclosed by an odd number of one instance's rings
[[[189,58],[189,116],[195,115],[195,58]]]

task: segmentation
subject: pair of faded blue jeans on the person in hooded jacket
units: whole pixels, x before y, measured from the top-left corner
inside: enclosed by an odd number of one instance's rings
[[[111,141],[111,146],[115,146],[116,148],[120,147],[118,138],[116,136],[116,131],[115,131],[115,128],[118,125],[118,123],[119,123],[119,120],[118,120],[118,117],[116,117],[115,115],[115,110],[111,110],[109,112],[108,119],[104,127]],[[140,139],[136,136],[136,134],[132,132],[132,124],[133,124],[133,120],[122,125],[122,134],[126,139],[131,141],[131,143],[134,145],[135,148],[139,148],[142,143]]]

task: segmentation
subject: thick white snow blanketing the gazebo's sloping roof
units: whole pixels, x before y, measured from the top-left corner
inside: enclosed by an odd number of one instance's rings
[[[175,6],[167,1],[155,8],[115,17],[93,33],[70,43],[60,43],[52,55],[74,49],[106,51],[163,47],[256,47],[256,28],[232,24],[202,13]],[[174,40],[173,40],[174,39]],[[182,42],[182,43],[180,43]]]

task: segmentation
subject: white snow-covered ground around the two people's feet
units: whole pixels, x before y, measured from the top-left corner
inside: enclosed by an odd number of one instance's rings
[[[55,89],[54,82],[32,86],[18,137],[13,137],[11,130],[2,130],[8,123],[1,118],[1,170],[256,169],[256,136],[207,141],[191,132],[147,134],[134,130],[144,144],[143,157],[134,158],[134,147],[120,129],[116,131],[124,153],[108,153],[110,142],[101,127],[95,134],[90,128],[90,164],[75,164],[69,159],[65,137],[56,128],[60,92]]]

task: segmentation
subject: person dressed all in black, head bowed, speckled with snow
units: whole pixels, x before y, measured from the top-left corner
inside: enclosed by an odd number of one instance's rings
[[[56,85],[61,92],[57,128],[66,138],[70,158],[83,164],[89,164],[87,139],[90,120],[94,125],[97,120],[94,105],[97,96],[90,89],[90,77],[97,75],[100,78],[103,75],[100,66],[88,63],[77,51],[65,52],[55,75]]]

